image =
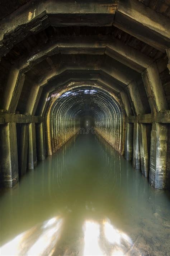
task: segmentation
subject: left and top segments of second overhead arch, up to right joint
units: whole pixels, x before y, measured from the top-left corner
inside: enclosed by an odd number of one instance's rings
[[[53,43],[49,45],[41,44],[35,47],[33,51],[29,53],[29,56],[24,55],[15,63],[15,66],[25,73],[44,59],[46,59],[50,64],[50,57],[53,55],[57,57],[57,54],[103,55],[105,53],[106,43],[108,40],[110,40],[110,37],[108,36],[70,36],[69,38],[67,36],[66,39],[57,36]]]

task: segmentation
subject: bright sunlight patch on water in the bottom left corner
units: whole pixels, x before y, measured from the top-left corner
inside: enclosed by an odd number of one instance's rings
[[[30,228],[4,244],[0,248],[0,255],[43,255],[47,249],[52,250],[57,243],[62,223],[61,218],[55,217],[45,221],[39,229],[37,226]],[[35,239],[36,232],[38,235],[41,232],[37,240]]]

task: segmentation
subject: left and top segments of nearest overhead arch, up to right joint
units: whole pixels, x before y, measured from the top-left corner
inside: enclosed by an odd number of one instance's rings
[[[112,1],[29,1],[6,16],[0,24],[1,55],[14,44],[49,26],[112,26],[117,0]],[[16,19],[17,16],[17,19]],[[12,24],[12,26],[11,26]]]

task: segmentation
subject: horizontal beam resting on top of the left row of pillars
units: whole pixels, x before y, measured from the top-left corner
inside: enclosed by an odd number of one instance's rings
[[[43,117],[0,112],[0,124],[5,123],[42,123]]]

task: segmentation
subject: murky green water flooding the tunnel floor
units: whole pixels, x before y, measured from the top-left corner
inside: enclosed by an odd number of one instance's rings
[[[0,255],[170,255],[169,192],[95,135],[1,191],[0,221]]]

